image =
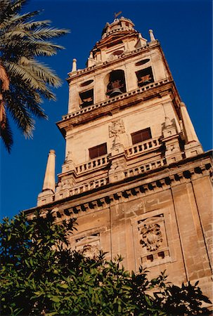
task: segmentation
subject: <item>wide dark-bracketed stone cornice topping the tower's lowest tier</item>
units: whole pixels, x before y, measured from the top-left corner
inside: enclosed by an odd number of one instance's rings
[[[119,183],[109,183],[79,195],[25,210],[25,213],[30,215],[36,209],[57,209],[60,218],[67,216],[67,213],[76,214],[88,209],[93,211],[94,209],[104,209],[109,204],[117,204],[119,199],[129,201],[136,197],[168,190],[176,185],[191,182],[204,176],[212,176],[212,150],[121,180]],[[83,199],[84,201],[82,201]]]

